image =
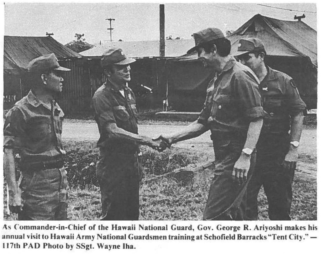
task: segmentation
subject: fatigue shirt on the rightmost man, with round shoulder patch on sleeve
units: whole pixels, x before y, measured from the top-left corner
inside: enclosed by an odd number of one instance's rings
[[[287,133],[290,116],[306,108],[293,79],[266,66],[267,75],[259,85],[266,115],[261,133]]]

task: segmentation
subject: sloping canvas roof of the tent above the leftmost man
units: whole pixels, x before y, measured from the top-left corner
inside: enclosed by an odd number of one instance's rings
[[[4,72],[18,74],[32,59],[49,53],[58,59],[82,57],[52,37],[4,36]]]

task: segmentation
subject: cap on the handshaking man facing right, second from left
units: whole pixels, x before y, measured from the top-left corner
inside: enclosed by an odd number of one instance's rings
[[[111,48],[102,55],[100,64],[105,67],[108,65],[128,65],[135,61],[133,58],[127,58],[121,48]]]

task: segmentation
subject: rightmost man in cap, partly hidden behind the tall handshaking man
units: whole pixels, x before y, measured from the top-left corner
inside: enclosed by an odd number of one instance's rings
[[[248,186],[248,219],[257,219],[257,195],[263,185],[270,220],[291,220],[292,181],[306,105],[290,76],[265,65],[266,51],[260,39],[240,39],[235,56],[258,77],[266,112],[256,170]]]

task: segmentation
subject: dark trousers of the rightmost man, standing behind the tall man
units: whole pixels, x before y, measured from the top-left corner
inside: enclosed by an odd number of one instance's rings
[[[295,167],[285,170],[281,163],[289,151],[289,134],[262,134],[257,143],[256,169],[248,185],[247,216],[257,220],[257,195],[263,185],[270,220],[291,220],[292,181]]]

